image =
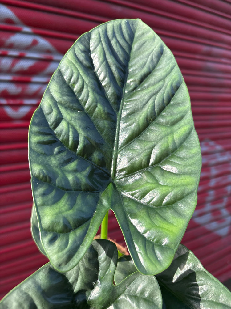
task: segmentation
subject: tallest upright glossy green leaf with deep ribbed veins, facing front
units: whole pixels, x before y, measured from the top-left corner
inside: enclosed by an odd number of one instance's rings
[[[42,246],[73,268],[112,209],[137,269],[176,252],[197,201],[201,152],[176,61],[141,20],[81,36],[60,62],[29,129]]]

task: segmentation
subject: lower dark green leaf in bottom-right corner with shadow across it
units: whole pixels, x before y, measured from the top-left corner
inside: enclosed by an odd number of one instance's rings
[[[231,293],[180,245],[172,264],[156,275],[166,309],[230,309]]]

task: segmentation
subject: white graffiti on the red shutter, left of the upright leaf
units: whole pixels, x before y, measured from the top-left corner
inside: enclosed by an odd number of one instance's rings
[[[0,4],[0,23],[7,24],[9,19],[18,28],[17,32],[12,32],[3,41],[2,50],[8,56],[2,57],[0,61],[2,72],[0,77],[0,93],[2,96],[0,104],[3,101],[14,101],[18,98],[22,98],[21,104],[26,104],[26,101],[32,95],[36,98],[42,97],[51,74],[57,69],[62,55],[49,41],[34,34],[31,28],[26,27],[7,6]],[[28,58],[28,55],[30,58]],[[15,58],[14,56],[19,57]],[[46,61],[43,61],[42,66],[41,60],[43,59],[46,59]],[[31,75],[31,68],[32,72],[36,72],[36,76]],[[22,83],[17,82],[15,77]],[[29,106],[20,106],[14,109],[4,102],[3,108],[13,120],[22,119],[30,109],[34,109],[34,107]]]

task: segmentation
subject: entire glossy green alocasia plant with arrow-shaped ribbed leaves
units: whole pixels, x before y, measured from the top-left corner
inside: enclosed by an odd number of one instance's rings
[[[102,24],[69,49],[32,117],[29,162],[32,234],[51,263],[2,308],[231,308],[179,246],[200,145],[176,61],[141,20]],[[131,255],[117,268],[115,245],[93,241],[109,209]]]

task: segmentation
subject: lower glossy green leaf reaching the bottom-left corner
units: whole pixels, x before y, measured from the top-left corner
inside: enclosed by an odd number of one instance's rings
[[[7,294],[0,308],[162,309],[154,276],[136,272],[113,284],[117,260],[114,243],[95,240],[75,268],[59,273],[47,263]]]

